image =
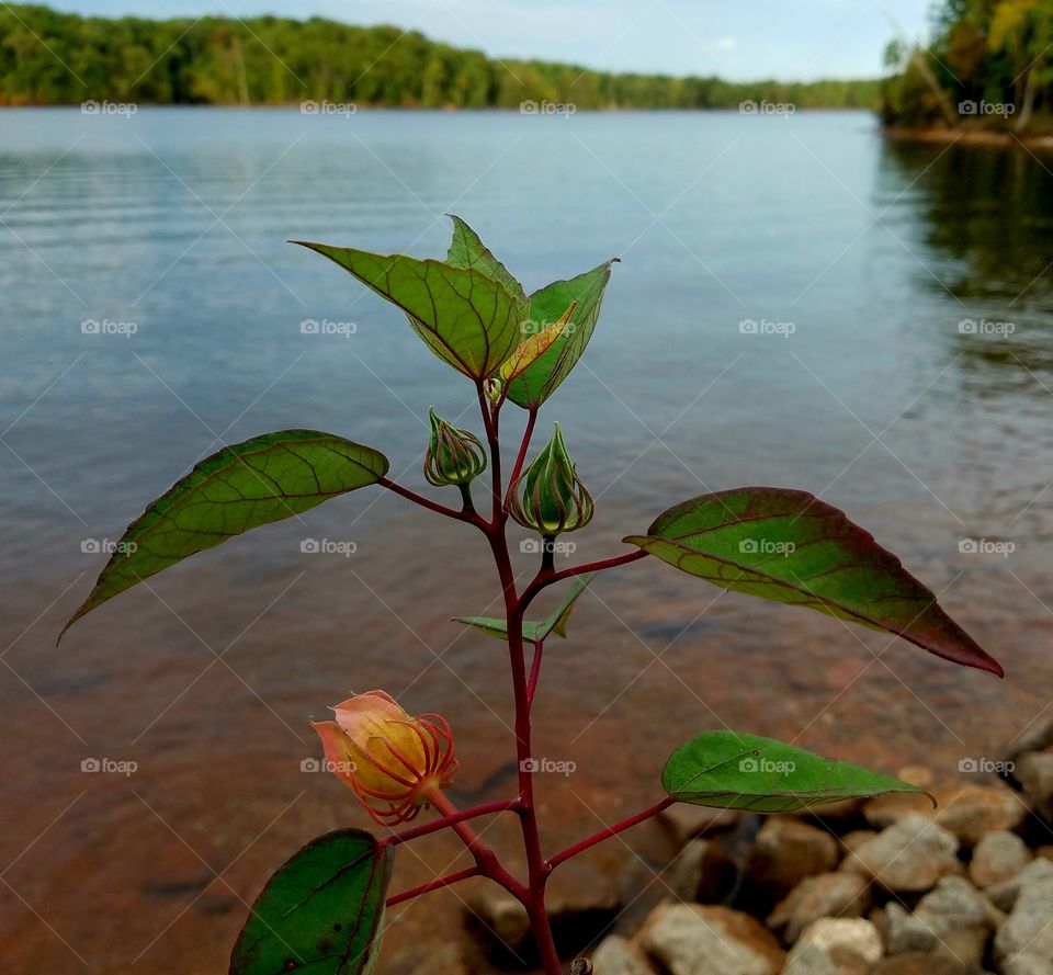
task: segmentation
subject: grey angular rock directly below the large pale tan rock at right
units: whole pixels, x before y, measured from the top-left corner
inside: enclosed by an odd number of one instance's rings
[[[987,942],[1004,916],[969,881],[943,877],[918,903],[914,914],[890,902],[886,911],[888,954],[946,952],[980,965]]]

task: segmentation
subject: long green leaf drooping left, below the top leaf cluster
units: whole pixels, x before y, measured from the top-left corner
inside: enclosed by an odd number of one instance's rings
[[[380,451],[316,430],[281,430],[224,447],[128,525],[63,633],[107,599],[186,556],[376,484],[387,469]]]

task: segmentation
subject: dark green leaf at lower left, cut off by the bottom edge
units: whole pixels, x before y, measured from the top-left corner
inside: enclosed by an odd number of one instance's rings
[[[318,837],[252,905],[230,975],[367,975],[380,951],[394,849],[361,829]]]

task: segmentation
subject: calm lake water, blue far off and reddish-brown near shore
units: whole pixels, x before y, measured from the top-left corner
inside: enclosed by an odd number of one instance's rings
[[[996,756],[1053,691],[1051,170],[890,144],[854,113],[0,114],[3,970],[225,971],[264,877],[362,824],[301,771],[320,753],[307,721],[351,689],[451,719],[455,801],[513,787],[503,646],[449,622],[497,596],[480,540],[387,492],[201,555],[55,647],[99,549],[222,442],[327,430],[420,488],[429,405],[475,424],[471,387],[397,313],[287,239],[439,256],[458,213],[528,290],[620,256],[539,424],[564,423],[598,499],[575,558],[706,490],[804,488],[1006,665],[999,682],[633,565],[546,659],[536,753],[577,766],[540,780],[550,846],[653,802],[668,752],[725,723],[890,772]],[[302,554],[308,537],[355,552]],[[505,824],[488,838],[514,846]],[[564,884],[626,862],[649,875],[614,843]],[[407,852],[395,883],[432,875]],[[458,909],[393,911],[383,971],[427,957]]]

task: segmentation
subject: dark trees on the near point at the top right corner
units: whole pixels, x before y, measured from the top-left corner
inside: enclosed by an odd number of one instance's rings
[[[928,48],[890,45],[886,123],[1053,133],[1053,2],[941,0]]]

